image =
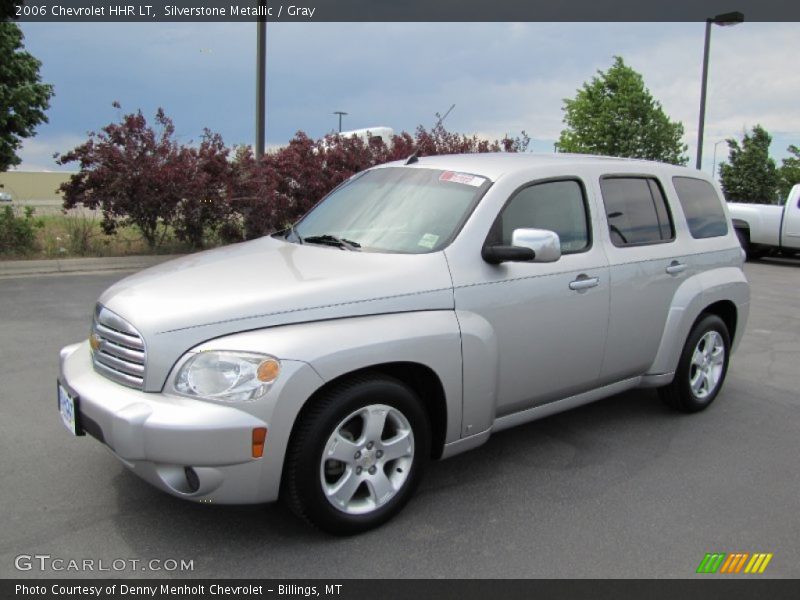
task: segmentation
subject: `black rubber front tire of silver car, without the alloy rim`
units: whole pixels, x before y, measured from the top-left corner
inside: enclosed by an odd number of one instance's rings
[[[416,394],[402,382],[387,378],[368,378],[332,392],[328,406],[312,423],[306,446],[300,449],[297,485],[307,516],[322,529],[338,534],[354,534],[389,520],[414,493],[430,456],[430,426]],[[385,404],[400,411],[414,435],[414,459],[403,486],[384,506],[362,515],[351,515],[334,507],[322,490],[320,464],[325,445],[335,428],[353,412],[372,404]]]

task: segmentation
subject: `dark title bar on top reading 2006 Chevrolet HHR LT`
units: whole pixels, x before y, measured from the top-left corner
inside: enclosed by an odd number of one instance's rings
[[[800,21],[787,0],[21,0],[11,19],[43,22]],[[8,18],[7,17],[7,18]]]

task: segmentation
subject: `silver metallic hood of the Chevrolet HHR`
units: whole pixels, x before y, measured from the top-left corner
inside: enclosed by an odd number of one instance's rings
[[[289,323],[453,309],[442,252],[383,254],[265,237],[172,260],[127,277],[100,303],[147,349],[145,389],[209,339]]]

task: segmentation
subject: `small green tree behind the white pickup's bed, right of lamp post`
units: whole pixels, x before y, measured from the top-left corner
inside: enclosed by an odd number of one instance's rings
[[[773,204],[778,198],[778,171],[769,157],[772,136],[761,125],[744,133],[741,145],[728,142],[728,162],[719,166],[719,178],[726,200]]]

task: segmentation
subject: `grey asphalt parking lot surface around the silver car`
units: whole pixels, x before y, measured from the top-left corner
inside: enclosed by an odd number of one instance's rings
[[[58,350],[123,275],[0,279],[0,577],[15,557],[192,560],[146,577],[692,577],[707,552],[800,576],[800,261],[745,267],[750,321],[698,415],[636,390],[435,463],[398,518],[338,539],[281,505],[191,504],[127,472],[56,410]],[[714,576],[716,577],[716,576]],[[719,576],[724,577],[724,576]]]

